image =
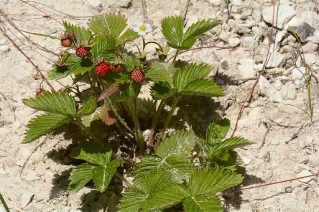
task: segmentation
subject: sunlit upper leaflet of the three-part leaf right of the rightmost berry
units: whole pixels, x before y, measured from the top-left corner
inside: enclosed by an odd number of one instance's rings
[[[204,63],[191,63],[189,66],[184,66],[174,74],[174,87],[181,92],[192,82],[204,79],[212,69],[212,66]]]

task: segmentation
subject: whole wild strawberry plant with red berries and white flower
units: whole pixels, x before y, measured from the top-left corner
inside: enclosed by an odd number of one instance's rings
[[[44,112],[28,123],[23,143],[59,126],[76,124],[87,139],[79,141],[71,152],[83,164],[70,173],[70,193],[91,180],[104,192],[117,177],[127,186],[118,206],[120,212],[161,211],[180,203],[187,212],[222,211],[216,194],[243,180],[235,172],[241,160],[234,149],[251,142],[241,137],[225,139],[230,127],[226,119],[211,123],[205,138],[191,129],[167,132],[168,127],[174,128],[170,123],[183,96],[223,95],[208,77],[211,65],[176,60],[180,50],[190,49],[199,35],[220,21],[201,20],[184,31],[182,17],[166,17],[161,32],[167,45],[145,40],[146,33],[152,32],[150,23],[139,21],[133,29],[126,29],[126,22],[114,13],[93,17],[89,28],[63,22],[65,32],[57,38],[63,51],[48,78],[73,76],[73,85],[23,100]],[[136,39],[142,39],[142,48]],[[128,43],[137,47],[135,55],[125,49]],[[154,52],[159,57],[153,62],[145,52],[150,44],[156,45]],[[174,59],[165,62],[170,48],[175,49]],[[87,86],[79,88],[79,81]],[[145,84],[152,84],[152,99],[138,97]],[[96,130],[101,125],[103,130]],[[149,130],[149,135],[143,136],[142,129]],[[195,147],[197,163],[192,156]],[[130,148],[137,150],[135,154],[130,154]],[[124,165],[131,167],[130,173],[120,169]],[[131,173],[132,183],[126,178]]]

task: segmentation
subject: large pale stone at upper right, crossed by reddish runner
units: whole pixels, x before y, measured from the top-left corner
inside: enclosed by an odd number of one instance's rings
[[[272,23],[272,13],[273,13],[273,6],[265,7],[262,11],[263,20],[267,23]],[[287,4],[285,5],[275,5],[275,22],[274,26],[282,29],[288,21],[296,15],[296,11],[292,6]]]

